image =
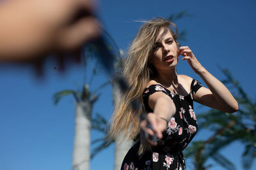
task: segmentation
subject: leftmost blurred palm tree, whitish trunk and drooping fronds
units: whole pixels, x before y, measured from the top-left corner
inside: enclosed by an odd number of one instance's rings
[[[87,59],[93,57],[97,46],[88,46],[86,49]],[[85,63],[85,62],[84,62]],[[84,64],[85,66],[85,64]],[[99,99],[99,89],[109,84],[109,81],[102,83],[100,87],[94,91],[90,90],[90,84],[93,81],[95,74],[97,74],[97,61],[93,67],[92,75],[89,83],[83,85],[81,91],[76,90],[61,90],[54,94],[54,104],[58,104],[60,99],[64,96],[72,95],[76,100],[76,115],[75,115],[75,136],[72,169],[89,170],[90,169],[90,132],[92,129],[92,110],[95,102]]]

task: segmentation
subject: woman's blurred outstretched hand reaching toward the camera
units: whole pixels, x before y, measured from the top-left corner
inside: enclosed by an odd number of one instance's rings
[[[147,114],[147,120],[140,122],[141,127],[141,141],[149,145],[156,146],[157,142],[154,136],[161,139],[163,138],[162,132],[166,129],[166,120],[158,117],[154,113]]]

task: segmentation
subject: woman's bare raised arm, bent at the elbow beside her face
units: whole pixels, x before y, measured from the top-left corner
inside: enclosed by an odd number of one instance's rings
[[[195,101],[211,108],[215,108],[227,113],[233,113],[239,106],[230,91],[220,80],[212,76],[196,59],[188,46],[181,46],[178,53],[183,55],[182,60],[188,60],[189,65],[197,73],[209,89],[202,87],[195,94]]]

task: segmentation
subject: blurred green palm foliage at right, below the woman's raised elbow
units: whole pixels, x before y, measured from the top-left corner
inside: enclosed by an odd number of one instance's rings
[[[227,69],[221,70],[226,76],[223,83],[235,89],[234,96],[240,105],[239,110],[234,115],[230,115],[211,109],[198,115],[201,129],[208,129],[214,134],[205,141],[193,142],[186,149],[186,156],[194,157],[194,166],[198,170],[211,167],[205,165],[210,158],[225,169],[235,169],[232,162],[220,155],[219,151],[234,141],[241,141],[244,145],[243,167],[250,169],[256,157],[256,103],[253,103]]]

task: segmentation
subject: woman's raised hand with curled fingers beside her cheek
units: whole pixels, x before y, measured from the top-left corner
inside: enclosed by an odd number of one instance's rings
[[[184,56],[182,60],[188,60],[189,66],[195,71],[195,73],[199,73],[204,67],[200,64],[200,62],[196,59],[192,50],[188,46],[180,46],[178,50],[178,56]]]

